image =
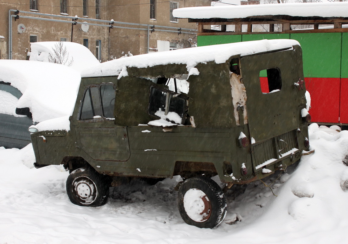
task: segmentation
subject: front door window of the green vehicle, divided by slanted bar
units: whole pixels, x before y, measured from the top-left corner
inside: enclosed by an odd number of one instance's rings
[[[80,120],[114,119],[113,108],[115,102],[115,89],[112,84],[90,86],[85,91],[82,101]]]

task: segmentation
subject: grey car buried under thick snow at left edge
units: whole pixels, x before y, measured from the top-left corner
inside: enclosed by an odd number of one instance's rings
[[[0,60],[0,146],[23,148],[30,125],[69,115],[80,79],[61,64]]]

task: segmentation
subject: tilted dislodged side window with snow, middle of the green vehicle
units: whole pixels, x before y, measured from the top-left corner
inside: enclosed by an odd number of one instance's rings
[[[166,89],[151,87],[149,114],[182,124],[185,115],[186,100]]]

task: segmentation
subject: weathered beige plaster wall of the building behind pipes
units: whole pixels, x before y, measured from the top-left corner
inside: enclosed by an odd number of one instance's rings
[[[189,46],[188,39],[190,34],[181,33],[178,35],[179,28],[188,28],[196,30],[195,23],[188,23],[186,19],[178,19],[177,22],[169,20],[169,6],[167,1],[157,0],[156,3],[156,20],[150,20],[150,0],[100,0],[100,19],[114,20],[119,22],[140,23],[141,25],[126,25],[114,23],[114,28],[108,26],[93,26],[89,25],[88,32],[81,29],[81,24],[73,25],[70,23],[52,22],[47,20],[35,20],[24,18],[22,16],[53,18],[44,15],[32,15],[22,13],[23,11],[41,14],[54,14],[57,20],[72,21],[72,18],[60,18],[59,16],[78,16],[88,19],[96,18],[96,0],[88,1],[87,16],[83,16],[82,0],[67,0],[67,13],[61,14],[60,0],[37,0],[38,11],[30,10],[30,0],[7,0],[7,3],[0,1],[0,58],[8,59],[9,53],[9,9],[18,9],[19,18],[12,19],[12,58],[26,59],[26,52],[30,51],[30,36],[37,36],[37,41],[60,41],[61,38],[66,38],[67,41],[72,41],[84,44],[84,39],[88,39],[88,48],[96,55],[96,40],[101,41],[101,61],[107,61],[112,58],[119,58],[128,52],[133,55],[143,54],[148,52],[148,26],[170,26],[175,29],[153,28],[155,31],[149,32],[149,47],[150,51],[157,51],[158,40],[174,43],[177,48]],[[183,0],[177,1],[179,8],[191,6],[209,6],[211,0]],[[11,12],[14,14],[14,12]],[[108,25],[108,22],[95,22],[93,20],[77,20],[94,24]],[[19,33],[17,31],[18,24],[25,25],[25,31]],[[128,28],[117,28],[123,26]],[[143,30],[141,30],[143,29]],[[166,32],[163,30],[173,30],[176,32]]]

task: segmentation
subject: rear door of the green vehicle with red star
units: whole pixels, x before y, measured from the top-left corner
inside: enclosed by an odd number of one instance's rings
[[[294,83],[303,77],[298,68],[302,62],[295,60],[293,50],[244,56],[240,62],[253,166],[259,171],[298,152],[299,104],[303,101]]]

